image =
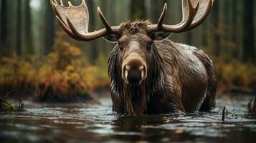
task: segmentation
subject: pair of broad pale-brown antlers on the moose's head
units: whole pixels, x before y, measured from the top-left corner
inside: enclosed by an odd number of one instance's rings
[[[58,4],[56,0],[50,1],[62,29],[64,29],[67,34],[72,36],[74,39],[80,41],[90,41],[101,36],[112,36],[119,34],[120,27],[110,26],[99,7],[98,14],[101,21],[103,21],[105,29],[89,32],[89,12],[87,5],[85,4],[85,0],[82,0],[82,4],[80,6],[72,6],[69,1],[68,7],[64,6],[62,0],[60,0],[60,4]],[[163,24],[167,13],[167,4],[165,4],[163,7],[163,12],[158,20],[158,24],[148,25],[148,31],[180,33],[194,29],[196,26],[202,24],[204,19],[206,19],[209,11],[212,9],[213,3],[214,0],[182,0],[183,19],[181,23],[176,25]]]

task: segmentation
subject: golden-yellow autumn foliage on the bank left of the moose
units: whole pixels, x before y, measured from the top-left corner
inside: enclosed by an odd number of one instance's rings
[[[93,66],[79,48],[66,41],[58,41],[47,56],[27,59],[15,53],[1,58],[0,92],[19,89],[24,93],[34,91],[39,99],[66,99],[87,96],[95,87],[108,83],[107,57],[100,56]]]

